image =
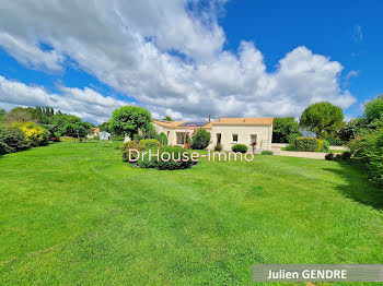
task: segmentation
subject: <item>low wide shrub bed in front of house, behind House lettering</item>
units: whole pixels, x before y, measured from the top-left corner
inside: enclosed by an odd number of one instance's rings
[[[156,154],[158,151],[152,151],[152,154]],[[174,154],[174,158],[176,160],[173,160],[172,158],[167,162],[162,160],[161,159],[161,154],[163,154],[164,152],[167,152],[171,156],[172,153]],[[189,159],[187,159],[186,162],[182,160],[183,158],[183,154],[186,154],[188,156]],[[151,160],[149,160],[149,154],[146,154],[142,157],[140,157],[137,162],[137,165],[141,168],[155,168],[159,170],[176,170],[176,169],[187,169],[190,168],[193,165],[197,164],[196,162],[193,162],[190,159],[190,152],[185,150],[185,148],[181,148],[181,147],[162,147],[159,150],[159,155],[160,155],[160,159],[156,159],[156,157],[152,156]],[[165,158],[167,158],[167,155],[164,155]],[[179,159],[179,160],[178,160]]]

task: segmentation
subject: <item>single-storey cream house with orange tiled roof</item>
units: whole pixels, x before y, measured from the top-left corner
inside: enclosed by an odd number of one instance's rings
[[[210,150],[221,143],[223,151],[230,151],[235,144],[245,144],[251,151],[252,143],[256,142],[256,151],[271,151],[272,118],[220,118],[211,122],[154,120],[153,124],[158,133],[165,133],[169,145],[183,146],[187,138],[186,128],[195,126],[211,133]]]

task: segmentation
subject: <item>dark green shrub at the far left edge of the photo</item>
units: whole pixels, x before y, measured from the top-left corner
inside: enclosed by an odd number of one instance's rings
[[[0,154],[14,153],[27,147],[23,131],[18,128],[0,127]]]

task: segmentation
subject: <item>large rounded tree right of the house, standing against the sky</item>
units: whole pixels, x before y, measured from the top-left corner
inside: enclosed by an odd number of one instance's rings
[[[304,109],[300,126],[314,132],[316,138],[334,134],[344,121],[344,111],[330,103],[316,103]]]

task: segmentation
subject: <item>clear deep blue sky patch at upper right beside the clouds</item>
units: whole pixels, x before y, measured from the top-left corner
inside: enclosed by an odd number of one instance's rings
[[[272,71],[286,52],[304,45],[345,67],[343,83],[359,103],[383,93],[382,1],[231,1],[225,8],[225,48],[252,40]],[[350,71],[357,75],[347,80]],[[360,112],[359,106],[348,112]]]

